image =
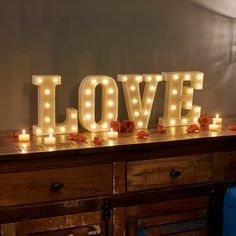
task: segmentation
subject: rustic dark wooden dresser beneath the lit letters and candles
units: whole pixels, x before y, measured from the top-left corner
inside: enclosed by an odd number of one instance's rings
[[[236,133],[186,127],[95,146],[0,134],[1,235],[221,235],[236,182]]]

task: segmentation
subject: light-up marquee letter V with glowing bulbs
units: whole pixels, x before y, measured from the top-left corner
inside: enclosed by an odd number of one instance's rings
[[[147,128],[157,85],[162,81],[162,76],[118,75],[118,81],[122,82],[129,119],[135,122],[137,129]],[[139,84],[142,81],[146,83],[141,99]]]

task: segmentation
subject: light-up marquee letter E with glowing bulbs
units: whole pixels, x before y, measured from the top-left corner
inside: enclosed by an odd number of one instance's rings
[[[163,126],[190,125],[197,123],[201,107],[193,105],[194,89],[202,89],[203,76],[201,72],[167,72],[162,73],[166,81],[164,116],[159,118]],[[184,86],[189,81],[190,86]],[[189,110],[181,116],[182,108]]]

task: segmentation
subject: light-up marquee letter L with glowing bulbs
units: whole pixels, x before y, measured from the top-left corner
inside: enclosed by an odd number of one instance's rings
[[[74,108],[66,109],[66,120],[56,124],[55,90],[61,84],[58,75],[34,75],[32,83],[38,86],[38,124],[33,125],[36,136],[78,132],[78,115]]]

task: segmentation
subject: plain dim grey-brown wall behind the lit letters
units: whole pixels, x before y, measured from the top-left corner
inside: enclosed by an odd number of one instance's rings
[[[0,130],[37,123],[33,74],[59,74],[58,122],[91,74],[199,70],[204,112],[236,116],[235,20],[191,0],[0,0]],[[127,118],[120,88],[119,118]],[[160,84],[151,122],[162,115]]]

